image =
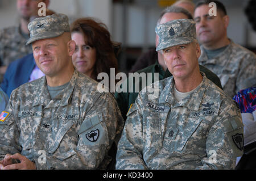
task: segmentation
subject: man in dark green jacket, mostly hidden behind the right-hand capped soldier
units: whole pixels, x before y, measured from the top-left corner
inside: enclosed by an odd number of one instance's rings
[[[189,3],[190,4],[190,3]],[[181,7],[176,6],[168,6],[166,9],[164,9],[161,12],[160,18],[158,19],[158,24],[166,23],[170,20],[174,19],[193,19],[192,15],[189,14],[189,12]],[[155,44],[158,45],[158,38],[156,38]],[[221,87],[220,79],[217,77],[216,74],[214,74],[209,69],[205,68],[202,65],[199,65],[200,71],[203,71],[207,78],[209,78],[213,83],[215,83],[217,86]],[[120,108],[120,111],[122,113],[123,119],[126,120],[126,114],[131,107],[131,104],[135,102],[135,99],[137,98],[139,92],[135,91],[135,87],[139,87],[139,91],[141,91],[144,86],[150,85],[151,83],[157,81],[160,81],[164,78],[171,77],[172,74],[167,69],[166,64],[163,60],[163,55],[160,52],[156,52],[156,62],[153,65],[148,66],[147,68],[144,68],[142,70],[137,71],[138,74],[146,73],[146,81],[142,79],[134,79],[134,77],[130,76],[127,78],[121,85],[126,86],[126,92],[115,92],[115,99],[117,100],[118,106]],[[152,73],[152,79],[150,80],[151,83],[147,84],[148,82],[148,73]],[[158,73],[158,78],[155,78],[155,73]],[[134,79],[134,80],[133,80]],[[146,85],[143,86],[143,83],[146,82]],[[126,85],[125,85],[126,84]],[[130,85],[129,85],[130,84]],[[222,89],[222,87],[221,87]]]

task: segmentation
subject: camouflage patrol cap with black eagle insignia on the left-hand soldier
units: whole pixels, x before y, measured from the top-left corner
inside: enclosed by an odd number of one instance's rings
[[[30,31],[30,39],[26,45],[36,40],[60,36],[64,32],[70,32],[68,16],[64,14],[53,14],[36,18],[28,24],[28,30]]]

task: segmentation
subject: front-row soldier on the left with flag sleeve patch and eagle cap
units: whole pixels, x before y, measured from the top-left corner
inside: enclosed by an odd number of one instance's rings
[[[36,18],[28,28],[27,44],[46,76],[12,92],[0,117],[0,167],[105,169],[124,124],[114,96],[74,69],[66,15]]]

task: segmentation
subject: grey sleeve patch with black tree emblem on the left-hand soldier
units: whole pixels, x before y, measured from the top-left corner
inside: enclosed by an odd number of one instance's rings
[[[105,145],[108,144],[108,129],[104,121],[98,115],[86,119],[82,122],[78,134],[85,145]]]

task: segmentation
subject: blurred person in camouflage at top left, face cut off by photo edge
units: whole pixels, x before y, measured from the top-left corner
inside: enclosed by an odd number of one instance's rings
[[[16,26],[0,31],[0,82],[2,82],[6,68],[11,62],[32,53],[31,45],[25,45],[30,37],[27,25],[30,18],[38,14],[39,2],[46,3],[46,7],[49,5],[49,0],[17,0],[16,8],[20,22]]]

